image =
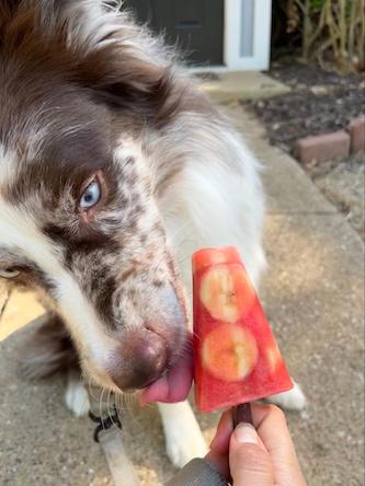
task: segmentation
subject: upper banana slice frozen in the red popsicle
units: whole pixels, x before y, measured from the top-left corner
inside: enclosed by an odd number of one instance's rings
[[[231,324],[244,317],[255,299],[246,271],[236,265],[217,265],[208,269],[202,278],[199,294],[213,317]]]

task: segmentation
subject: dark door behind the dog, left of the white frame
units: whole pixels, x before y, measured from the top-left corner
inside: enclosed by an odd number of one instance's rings
[[[223,65],[224,0],[125,0],[194,65]]]

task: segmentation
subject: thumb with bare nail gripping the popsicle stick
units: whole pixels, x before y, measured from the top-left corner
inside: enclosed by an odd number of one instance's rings
[[[233,486],[274,486],[270,454],[251,424],[239,424],[231,435],[229,467]]]

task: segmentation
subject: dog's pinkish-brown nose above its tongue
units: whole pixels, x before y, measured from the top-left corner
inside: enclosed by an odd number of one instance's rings
[[[168,366],[167,342],[153,331],[129,331],[122,348],[123,362],[111,370],[111,375],[123,391],[147,386],[160,378]]]

